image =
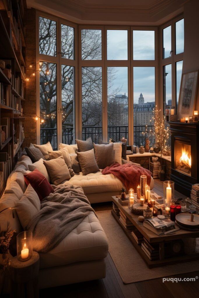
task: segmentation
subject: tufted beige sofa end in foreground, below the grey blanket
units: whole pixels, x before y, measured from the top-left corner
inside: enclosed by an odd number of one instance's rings
[[[39,253],[40,268],[101,260],[107,256],[108,240],[94,212],[70,232],[54,249]]]

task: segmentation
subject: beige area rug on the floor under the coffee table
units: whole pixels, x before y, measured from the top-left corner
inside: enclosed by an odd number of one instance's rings
[[[127,235],[115,221],[111,210],[96,212],[109,241],[109,253],[123,283],[135,283],[199,270],[199,261],[149,269]],[[189,277],[189,274],[187,274]]]

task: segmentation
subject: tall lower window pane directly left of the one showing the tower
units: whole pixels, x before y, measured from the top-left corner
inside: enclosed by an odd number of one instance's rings
[[[108,140],[128,139],[128,67],[108,67]]]

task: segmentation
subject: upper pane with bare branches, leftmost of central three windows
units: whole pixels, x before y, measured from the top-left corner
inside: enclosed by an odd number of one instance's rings
[[[81,30],[81,59],[101,60],[101,30]]]

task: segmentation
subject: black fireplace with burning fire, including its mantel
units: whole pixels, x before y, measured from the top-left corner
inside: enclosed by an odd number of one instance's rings
[[[199,124],[169,122],[171,129],[171,180],[175,189],[190,196],[199,183]]]

